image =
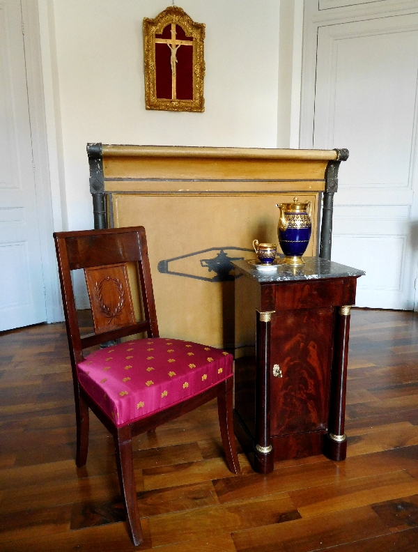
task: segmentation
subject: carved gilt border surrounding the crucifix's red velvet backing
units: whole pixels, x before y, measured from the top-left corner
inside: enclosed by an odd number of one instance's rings
[[[187,36],[193,37],[193,99],[177,100],[157,98],[155,34],[160,34],[169,24],[183,28]],[[203,112],[203,77],[205,61],[203,59],[203,40],[205,24],[194,22],[182,8],[169,6],[155,19],[144,17],[144,73],[145,73],[145,107],[163,111]]]

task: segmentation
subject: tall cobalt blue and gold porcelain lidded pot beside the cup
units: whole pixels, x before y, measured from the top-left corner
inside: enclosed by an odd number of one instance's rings
[[[297,266],[304,264],[302,255],[307,250],[311,237],[311,202],[301,203],[297,197],[291,204],[277,204],[280,210],[277,235],[284,263]]]

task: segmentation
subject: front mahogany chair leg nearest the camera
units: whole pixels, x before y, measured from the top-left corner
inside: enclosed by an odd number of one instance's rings
[[[139,546],[144,541],[139,521],[137,489],[135,486],[134,461],[132,458],[132,434],[130,426],[121,427],[114,436],[116,465],[118,466],[119,484],[127,512],[132,542]]]

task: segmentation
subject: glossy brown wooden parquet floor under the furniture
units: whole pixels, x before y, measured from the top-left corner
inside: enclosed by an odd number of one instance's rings
[[[353,311],[348,458],[277,463],[232,476],[215,403],[135,440],[137,550],[418,551],[418,315]],[[84,468],[63,324],[0,335],[0,550],[136,550],[113,443],[91,415]]]

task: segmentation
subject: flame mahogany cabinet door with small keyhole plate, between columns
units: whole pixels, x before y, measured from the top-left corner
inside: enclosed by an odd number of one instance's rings
[[[327,429],[334,308],[296,309],[272,317],[272,436]]]

